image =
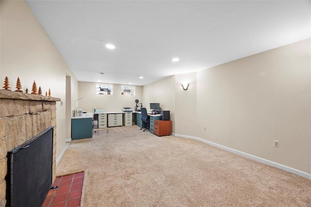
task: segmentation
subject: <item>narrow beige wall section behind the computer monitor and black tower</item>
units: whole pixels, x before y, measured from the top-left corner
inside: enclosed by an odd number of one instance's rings
[[[160,109],[170,111],[172,120],[172,132],[175,131],[175,76],[158,80],[143,86],[142,104],[147,111],[150,103],[160,103]]]

